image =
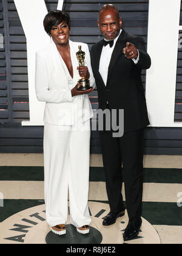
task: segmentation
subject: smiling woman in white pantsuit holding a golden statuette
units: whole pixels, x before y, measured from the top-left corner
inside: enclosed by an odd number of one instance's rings
[[[79,233],[89,233],[88,202],[90,118],[88,94],[77,91],[80,77],[95,87],[87,44],[69,40],[70,17],[59,10],[44,18],[50,44],[36,52],[36,96],[44,101],[44,195],[52,232],[66,233],[68,191],[70,221]],[[86,52],[78,67],[78,46]]]

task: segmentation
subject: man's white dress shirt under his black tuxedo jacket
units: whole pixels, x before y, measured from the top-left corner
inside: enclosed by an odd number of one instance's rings
[[[121,34],[121,32],[122,32],[122,29],[120,31],[120,34]],[[101,53],[101,59],[100,59],[100,63],[99,63],[99,73],[101,74],[101,77],[103,78],[105,85],[107,84],[107,76],[108,76],[110,59],[112,57],[113,49],[115,49],[116,41],[120,37],[120,34],[118,35],[118,37],[116,37],[113,40],[113,46],[111,48],[110,48],[109,44],[107,44],[107,46],[103,46],[103,51]],[[106,40],[106,39],[104,38],[104,40]],[[139,61],[139,58],[140,58],[140,56],[139,56],[139,52],[138,52],[138,58],[136,60],[135,59],[132,59],[132,60],[135,64],[137,64]]]

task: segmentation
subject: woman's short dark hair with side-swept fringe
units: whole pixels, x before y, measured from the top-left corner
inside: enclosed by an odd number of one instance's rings
[[[71,26],[71,20],[70,16],[61,10],[53,10],[47,13],[47,15],[44,18],[44,29],[45,32],[47,32],[48,35],[50,35],[50,32],[52,30],[53,26],[58,26],[62,21],[65,21],[67,25]]]

